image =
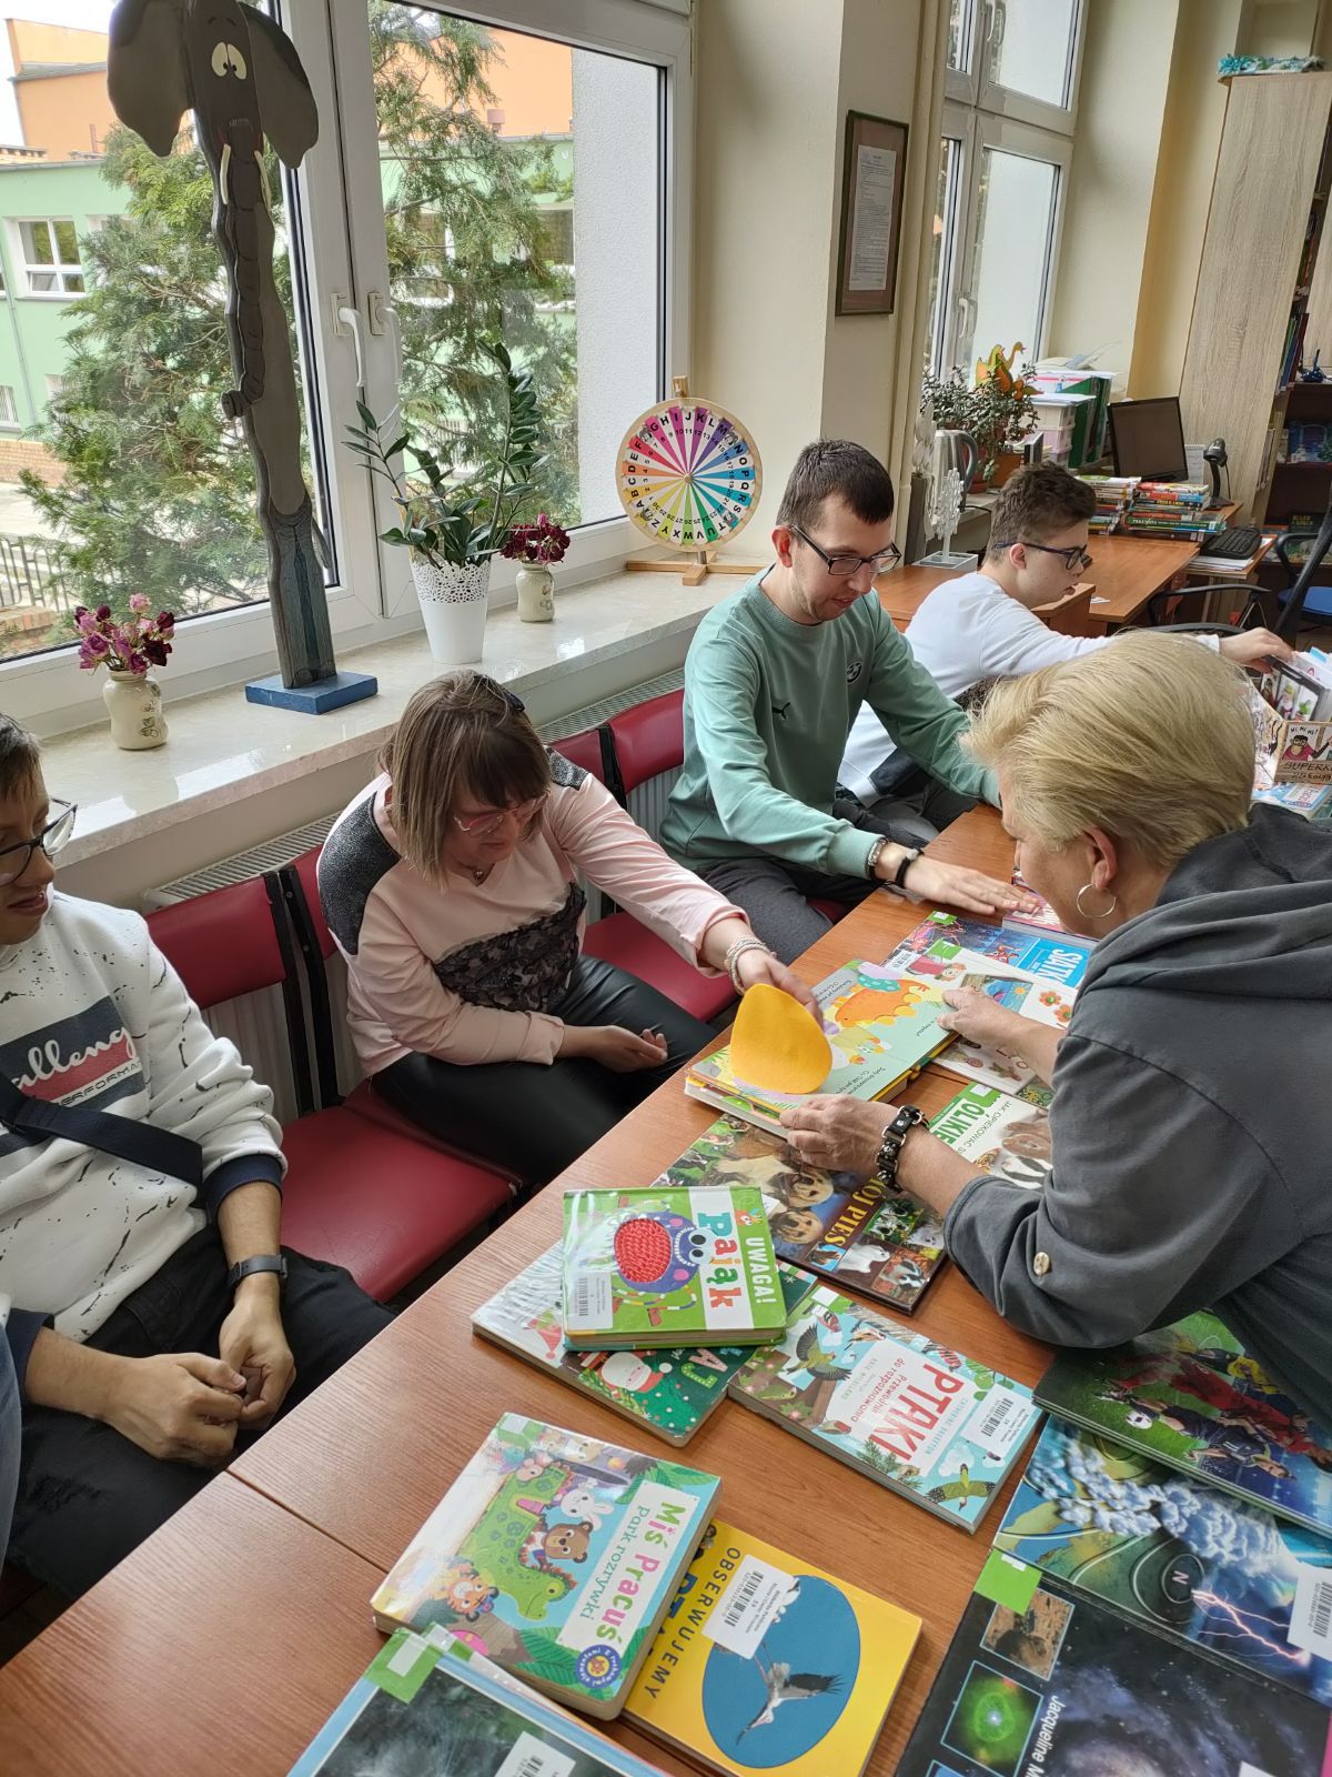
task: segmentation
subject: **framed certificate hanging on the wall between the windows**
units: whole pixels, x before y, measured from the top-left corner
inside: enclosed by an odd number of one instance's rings
[[[906,124],[847,112],[836,254],[838,315],[893,313],[904,183]]]

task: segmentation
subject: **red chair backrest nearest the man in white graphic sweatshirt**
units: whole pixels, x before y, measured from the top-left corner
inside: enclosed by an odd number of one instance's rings
[[[250,876],[156,908],[147,929],[201,1011],[281,990],[295,1109],[304,1116],[314,1102],[309,1043],[277,878]]]

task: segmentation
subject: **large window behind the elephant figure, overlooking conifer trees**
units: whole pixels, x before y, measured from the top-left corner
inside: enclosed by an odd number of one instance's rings
[[[636,547],[618,442],[687,370],[684,9],[266,11],[320,108],[318,144],[295,174],[270,153],[268,188],[339,650],[419,624],[407,554],[378,538],[396,514],[343,448],[357,402],[465,480],[499,437],[490,339],[540,393],[540,506],[574,531],[567,572],[616,563]],[[103,146],[0,167],[0,277],[48,299],[0,302],[0,707],[16,714],[91,705],[96,681],[50,650],[75,604],[135,592],[192,618],[172,681],[272,670],[254,471],[220,412],[234,375],[211,181],[188,133],[165,160],[123,128]],[[16,554],[44,567],[7,586]],[[496,563],[492,602],[511,576]],[[16,606],[44,622],[5,626]]]

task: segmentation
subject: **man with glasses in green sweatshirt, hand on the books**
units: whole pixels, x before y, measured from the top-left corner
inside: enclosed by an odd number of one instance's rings
[[[806,897],[854,906],[879,883],[966,912],[1025,897],[938,864],[893,819],[836,800],[861,704],[895,746],[959,796],[998,803],[957,745],[964,713],[916,665],[874,594],[897,560],[893,483],[860,444],[806,444],[773,531],[776,562],[698,626],[684,668],[684,769],[662,841],[794,961],[828,931]],[[900,830],[911,837],[911,830]]]

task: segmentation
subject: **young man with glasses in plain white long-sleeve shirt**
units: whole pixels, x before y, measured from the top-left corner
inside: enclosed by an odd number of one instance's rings
[[[941,691],[963,698],[989,679],[1018,679],[1114,640],[1064,636],[1035,617],[1037,606],[1053,604],[1085,578],[1092,562],[1087,554],[1092,512],[1096,494],[1089,483],[1057,464],[1034,464],[1005,482],[991,514],[980,572],[938,585],[906,633],[916,661]],[[1217,645],[1215,638],[1204,640]],[[1238,666],[1291,656],[1270,629],[1227,636],[1220,652]],[[924,771],[893,748],[868,704],[851,729],[838,777],[844,789],[879,816],[884,798],[918,803],[924,787],[918,782]],[[934,832],[931,826],[920,837],[932,839]]]

